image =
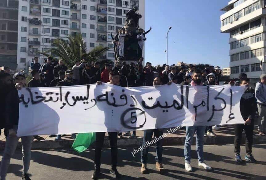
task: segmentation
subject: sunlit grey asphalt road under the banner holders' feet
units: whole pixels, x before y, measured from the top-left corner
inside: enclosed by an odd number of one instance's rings
[[[193,172],[184,170],[183,146],[163,147],[163,163],[168,170],[167,174],[160,175],[155,169],[155,148],[151,147],[149,153],[150,174],[140,173],[140,153],[135,157],[131,155],[133,148],[119,149],[118,171],[123,174],[121,179],[266,179],[266,144],[256,144],[253,147],[254,157],[258,164],[244,162],[236,164],[233,145],[204,146],[205,162],[212,166],[212,171],[199,168],[195,146],[192,146],[191,165]],[[245,147],[241,146],[241,157],[244,159]],[[91,179],[93,172],[94,149],[81,154],[72,150],[32,151],[32,160],[29,173],[32,180],[73,180]],[[2,151],[1,151],[2,158]],[[111,151],[104,149],[102,153],[101,178],[113,179],[109,168]],[[21,179],[22,154],[16,151],[11,159],[6,179]]]

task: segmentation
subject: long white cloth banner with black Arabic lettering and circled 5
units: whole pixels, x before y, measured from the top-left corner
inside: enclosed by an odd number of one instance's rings
[[[244,123],[244,87],[178,84],[22,88],[18,136]]]

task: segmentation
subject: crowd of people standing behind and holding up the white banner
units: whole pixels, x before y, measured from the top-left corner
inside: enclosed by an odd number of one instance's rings
[[[19,116],[19,100],[18,90],[22,87],[43,87],[43,86],[72,86],[78,84],[97,84],[109,83],[119,85],[122,87],[136,87],[136,86],[150,86],[150,85],[162,85],[162,84],[181,84],[190,86],[209,86],[218,85],[221,75],[219,67],[205,65],[202,70],[197,69],[193,65],[181,65],[180,67],[163,65],[162,67],[154,68],[150,62],[146,63],[143,67],[143,58],[140,58],[138,63],[131,63],[127,65],[126,61],[122,65],[119,63],[113,67],[111,64],[105,64],[104,69],[100,69],[99,62],[86,62],[86,60],[76,61],[72,69],[68,69],[62,60],[59,62],[53,61],[51,57],[47,58],[47,63],[40,65],[38,63],[38,57],[34,58],[34,62],[31,64],[31,76],[32,79],[26,84],[26,77],[23,73],[15,73],[13,78],[10,75],[8,68],[4,68],[0,72],[0,117],[1,128],[5,128],[6,146],[3,153],[0,178],[6,179],[6,173],[8,171],[10,158],[14,155],[16,145],[19,137],[16,136],[18,128],[18,116]],[[246,135],[246,153],[245,159],[249,162],[256,163],[257,161],[252,155],[252,143],[253,143],[253,127],[255,121],[256,107],[258,108],[258,131],[259,135],[265,135],[266,132],[264,119],[266,113],[266,74],[262,74],[260,82],[256,84],[255,92],[247,91],[243,94],[240,101],[240,111],[244,124],[235,125],[235,159],[236,162],[241,163],[240,157],[240,143],[241,136],[244,130]],[[225,82],[225,84],[231,85],[243,85],[249,86],[249,79],[246,74],[241,73],[239,80],[233,82]],[[190,165],[191,162],[191,143],[193,141],[194,133],[196,133],[196,151],[198,154],[198,166],[203,167],[206,170],[212,168],[208,166],[204,161],[204,135],[215,135],[212,132],[212,127],[198,126],[198,127],[186,127],[186,140],[184,144],[184,157],[185,157],[185,169],[192,171]],[[117,138],[118,132],[109,132],[109,140],[111,145],[111,174],[115,178],[119,178],[120,174],[116,168],[118,162],[117,151]],[[130,132],[126,133],[130,135]],[[152,135],[160,136],[163,134],[163,130],[144,130],[143,143],[151,141]],[[95,166],[93,179],[99,178],[100,164],[101,164],[101,150],[103,146],[104,132],[96,133],[96,148],[95,148]],[[51,135],[55,136],[55,135]],[[120,137],[123,137],[122,133],[119,133]],[[135,137],[135,132],[133,136]],[[75,134],[72,134],[72,138],[75,138]],[[32,145],[32,139],[41,140],[39,136],[24,136],[21,137],[22,141],[22,154],[23,154],[23,174],[22,179],[29,180],[28,170],[30,167],[30,151]],[[57,135],[55,140],[61,139],[61,135]],[[163,148],[162,140],[155,143],[156,146],[156,168],[160,173],[165,172],[163,167]],[[146,174],[147,169],[147,154],[148,147],[141,152],[141,173]]]

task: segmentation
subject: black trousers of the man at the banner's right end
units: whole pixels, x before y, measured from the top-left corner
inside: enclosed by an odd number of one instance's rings
[[[245,130],[246,134],[246,153],[249,155],[252,153],[252,143],[253,143],[253,129],[254,121],[250,125],[235,124],[235,153],[240,153],[240,143],[242,140],[242,132]]]

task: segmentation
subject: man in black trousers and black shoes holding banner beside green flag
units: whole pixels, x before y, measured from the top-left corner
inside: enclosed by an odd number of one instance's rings
[[[97,85],[101,85],[102,82],[98,81]],[[108,84],[120,85],[120,76],[116,72],[110,72]],[[110,146],[111,146],[111,159],[112,165],[110,173],[114,175],[115,178],[120,178],[121,174],[116,169],[117,165],[117,132],[108,132]],[[104,141],[105,132],[96,132],[96,147],[94,156],[94,172],[91,175],[92,179],[98,179],[100,176],[100,166],[101,166],[101,154]]]

